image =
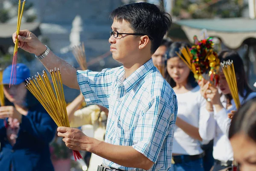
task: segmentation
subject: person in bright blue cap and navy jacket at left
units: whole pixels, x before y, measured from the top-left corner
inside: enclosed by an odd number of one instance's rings
[[[25,87],[30,76],[25,64],[17,64],[16,83],[9,87],[12,66],[3,71],[4,95],[0,107],[0,170],[54,171],[49,142],[57,126]]]

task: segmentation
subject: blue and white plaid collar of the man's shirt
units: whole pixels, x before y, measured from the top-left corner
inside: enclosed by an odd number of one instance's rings
[[[117,82],[120,84],[120,86],[123,84],[125,87],[126,92],[129,92],[134,88],[134,86],[145,76],[150,72],[152,69],[154,69],[154,64],[152,61],[152,58],[148,60],[145,64],[143,64],[140,68],[138,68],[136,71],[134,71],[128,78],[125,79],[125,70],[122,67],[122,70],[120,71],[118,75]]]

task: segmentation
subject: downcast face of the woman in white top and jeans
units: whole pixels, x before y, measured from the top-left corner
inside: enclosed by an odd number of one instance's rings
[[[179,57],[168,59],[166,68],[176,84],[186,83],[190,69]]]

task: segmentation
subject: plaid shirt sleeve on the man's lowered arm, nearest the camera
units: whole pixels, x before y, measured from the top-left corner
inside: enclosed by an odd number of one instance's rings
[[[176,116],[177,101],[169,105],[160,96],[151,99],[139,118],[133,148],[156,163],[163,144],[166,151],[171,147],[170,136],[173,137]]]

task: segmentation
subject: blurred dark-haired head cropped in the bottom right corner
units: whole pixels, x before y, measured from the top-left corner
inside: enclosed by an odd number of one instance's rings
[[[234,115],[229,139],[240,171],[256,170],[256,98],[247,101]]]

